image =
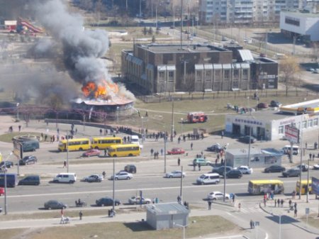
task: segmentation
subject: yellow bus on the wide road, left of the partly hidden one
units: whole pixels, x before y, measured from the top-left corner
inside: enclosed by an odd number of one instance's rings
[[[284,193],[284,182],[276,179],[250,180],[248,182],[248,192],[253,195],[274,193]]]

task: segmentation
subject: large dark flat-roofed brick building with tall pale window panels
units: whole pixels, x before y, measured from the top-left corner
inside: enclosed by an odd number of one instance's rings
[[[207,44],[135,44],[133,50],[122,51],[122,75],[145,94],[277,87],[276,62],[254,60],[251,54],[245,57],[236,48],[228,49]],[[238,55],[237,60],[234,55]],[[272,76],[271,84],[268,75]]]

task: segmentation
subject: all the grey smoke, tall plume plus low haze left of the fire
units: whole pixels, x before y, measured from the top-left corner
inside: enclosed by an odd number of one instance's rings
[[[111,82],[106,65],[100,59],[108,51],[108,35],[105,30],[84,29],[84,18],[77,13],[69,13],[62,0],[32,0],[28,1],[28,8],[35,13],[34,17],[38,25],[45,28],[45,32],[50,36],[49,38],[41,38],[36,43],[33,47],[35,55],[60,57],[60,59],[52,59],[52,62],[55,62],[55,65],[57,62],[64,63],[65,69],[72,78],[62,77],[62,74],[54,69],[46,72],[47,77],[42,79],[40,75],[35,77],[36,73],[31,70],[30,75],[21,79],[21,83],[29,82],[29,86],[33,85],[34,89],[31,91],[33,96],[38,97],[43,94],[43,89],[46,86],[48,86],[46,91],[61,94],[57,88],[62,86],[63,97],[72,99],[74,96],[82,96],[79,95],[80,89],[86,82],[98,83],[101,79]],[[15,79],[17,80],[17,77]],[[80,84],[77,85],[75,82]],[[30,90],[28,92],[30,93]],[[128,99],[134,99],[133,94],[127,91],[124,86],[119,87],[119,94]]]

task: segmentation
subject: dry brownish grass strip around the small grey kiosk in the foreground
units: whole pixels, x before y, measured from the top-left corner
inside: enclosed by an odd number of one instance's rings
[[[232,222],[220,216],[201,216],[191,217],[191,223],[185,230],[186,238],[194,238],[201,235],[220,234],[220,233],[236,233],[238,228]],[[154,230],[147,225],[146,222],[134,223],[91,223],[75,226],[61,226],[57,228],[36,229],[31,232],[28,238],[33,239],[53,239],[60,238],[61,235],[69,239],[77,238],[157,238],[157,239],[176,239],[181,238],[182,228],[171,228],[167,230]],[[2,231],[1,231],[2,232]]]

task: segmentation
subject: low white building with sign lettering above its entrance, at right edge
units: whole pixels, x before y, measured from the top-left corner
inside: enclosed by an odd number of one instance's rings
[[[319,99],[261,111],[230,114],[225,117],[225,133],[251,135],[258,140],[284,138],[285,126],[295,126],[303,132],[318,130]]]

